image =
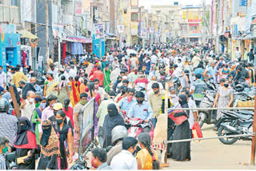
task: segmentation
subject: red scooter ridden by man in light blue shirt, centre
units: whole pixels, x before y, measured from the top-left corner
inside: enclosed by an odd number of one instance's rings
[[[128,137],[138,137],[138,135],[140,133],[142,133],[142,124],[145,123],[144,120],[140,119],[140,118],[130,118],[127,117],[126,115],[126,111],[122,110],[122,114],[127,118],[126,120],[126,124],[130,125],[130,128],[128,129]],[[150,126],[151,126],[151,130],[149,132],[151,140],[153,140],[154,137],[154,126],[152,124],[152,122],[150,122]]]

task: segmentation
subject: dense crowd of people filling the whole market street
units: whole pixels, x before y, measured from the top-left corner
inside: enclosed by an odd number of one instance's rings
[[[98,141],[98,147],[91,150],[93,168],[160,169],[155,150],[167,148],[174,160],[190,161],[190,141],[168,147],[165,143],[153,145],[150,131],[157,129],[165,113],[165,98],[168,108],[197,108],[206,82],[213,82],[218,85],[214,106],[232,107],[231,83],[255,84],[253,62],[252,52],[242,57],[239,49],[230,61],[215,54],[210,44],[170,43],[111,50],[102,59],[89,54],[82,58],[67,55],[61,67],[50,58],[42,84],[42,78],[31,69],[25,72],[19,65],[7,65],[5,71],[0,66],[0,169],[6,169],[4,154],[8,152],[15,152],[18,169],[69,169],[78,159],[81,144],[80,111],[92,98]],[[174,78],[178,86],[172,84]],[[21,112],[19,118],[15,104]],[[168,118],[168,140],[191,138],[198,111],[171,114],[186,120],[177,125]],[[126,123],[132,117],[143,120],[137,139],[128,137]],[[218,111],[212,119],[221,117]],[[158,136],[162,135],[154,134]],[[88,145],[82,144],[83,149]]]

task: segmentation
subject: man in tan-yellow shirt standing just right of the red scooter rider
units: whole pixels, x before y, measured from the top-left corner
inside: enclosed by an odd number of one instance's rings
[[[150,93],[149,101],[150,106],[154,113],[154,116],[151,121],[155,128],[155,125],[157,124],[158,121],[158,116],[160,115],[162,108],[162,97],[165,95],[165,93],[160,91],[159,84],[156,82],[152,85],[152,89],[154,93]]]

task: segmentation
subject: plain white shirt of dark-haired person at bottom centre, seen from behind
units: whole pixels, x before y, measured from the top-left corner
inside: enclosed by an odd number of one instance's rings
[[[114,170],[138,170],[136,158],[127,150],[122,149],[110,162],[110,168]]]

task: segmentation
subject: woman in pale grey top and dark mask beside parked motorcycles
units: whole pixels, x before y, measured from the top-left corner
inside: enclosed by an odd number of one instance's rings
[[[229,81],[226,80],[224,86],[220,86],[218,88],[218,93],[215,97],[214,107],[223,108],[223,107],[231,107],[234,96],[233,89],[229,88]],[[217,112],[217,121],[223,116],[222,110],[218,110]]]

